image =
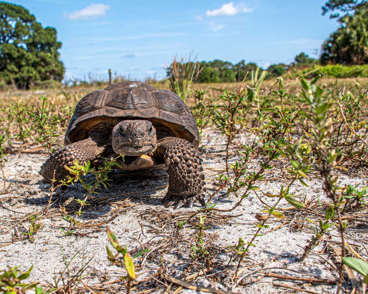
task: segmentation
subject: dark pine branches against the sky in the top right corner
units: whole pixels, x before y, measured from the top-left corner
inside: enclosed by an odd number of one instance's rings
[[[335,10],[340,10],[343,15],[347,15],[350,12],[355,12],[361,8],[367,8],[367,0],[329,0],[326,2],[325,6],[322,6],[322,15],[328,12],[333,12]],[[339,18],[340,13],[331,13],[330,18]]]

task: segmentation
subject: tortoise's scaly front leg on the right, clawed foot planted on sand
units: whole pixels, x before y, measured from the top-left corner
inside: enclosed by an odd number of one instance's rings
[[[169,169],[169,188],[162,200],[168,201],[165,207],[175,205],[174,209],[178,209],[187,205],[192,208],[195,200],[204,206],[205,176],[194,145],[184,139],[167,137],[157,142],[156,152],[163,155]]]

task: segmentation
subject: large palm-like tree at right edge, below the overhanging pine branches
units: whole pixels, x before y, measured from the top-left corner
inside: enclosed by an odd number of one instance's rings
[[[368,10],[339,19],[341,26],[322,44],[321,64],[365,64],[368,62]]]

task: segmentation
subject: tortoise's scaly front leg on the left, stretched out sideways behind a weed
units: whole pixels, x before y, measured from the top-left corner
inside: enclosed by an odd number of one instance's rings
[[[41,166],[40,175],[51,183],[55,171],[55,180],[59,181],[69,175],[64,165],[72,166],[76,160],[79,164],[84,164],[96,159],[104,150],[105,146],[96,143],[91,138],[69,144],[46,160]]]

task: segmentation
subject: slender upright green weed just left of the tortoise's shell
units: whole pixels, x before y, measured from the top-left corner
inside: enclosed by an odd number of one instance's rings
[[[53,143],[55,141],[54,137],[58,137],[57,133],[57,125],[51,124],[49,122],[48,110],[46,110],[46,100],[47,98],[41,96],[42,98],[42,106],[36,104],[36,108],[34,112],[28,112],[28,115],[33,119],[33,123],[35,123],[36,131],[38,132],[38,137],[36,140],[39,143],[45,143],[45,148],[49,150],[49,153],[52,154],[54,152]]]

